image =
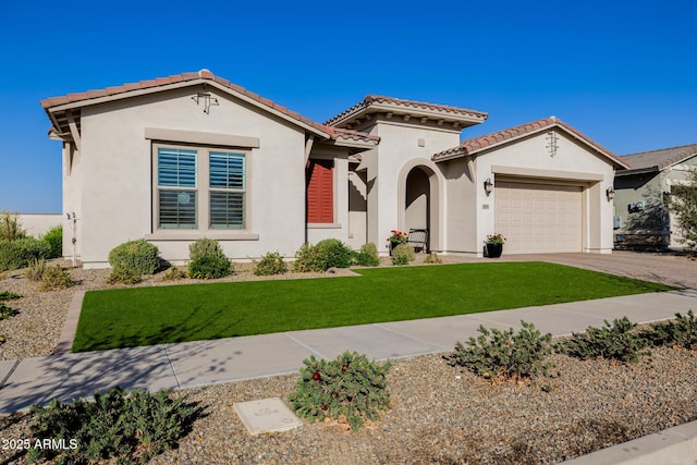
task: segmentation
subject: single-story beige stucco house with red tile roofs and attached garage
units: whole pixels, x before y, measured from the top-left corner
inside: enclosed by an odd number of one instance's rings
[[[494,232],[505,254],[610,253],[628,168],[553,117],[461,142],[487,113],[368,96],[320,124],[208,70],[41,105],[85,267],[134,238],[172,262],[204,236],[234,260],[326,237],[387,254],[412,228],[444,255],[481,256]]]

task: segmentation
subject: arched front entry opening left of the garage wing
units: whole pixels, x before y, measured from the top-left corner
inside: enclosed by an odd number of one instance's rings
[[[440,250],[439,180],[426,164],[414,163],[402,171],[400,224],[404,231],[428,230],[427,250]]]

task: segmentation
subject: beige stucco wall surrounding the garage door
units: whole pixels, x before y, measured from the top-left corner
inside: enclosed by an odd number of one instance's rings
[[[611,253],[612,236],[612,204],[608,201],[604,192],[612,186],[614,171],[611,162],[591,152],[585,145],[579,144],[565,133],[557,132],[557,151],[552,156],[547,146],[550,144],[547,133],[531,135],[511,144],[494,147],[486,152],[477,154],[473,161],[474,188],[472,181],[465,178],[464,185],[458,186],[457,194],[452,196],[462,198],[466,194],[474,194],[469,198],[476,209],[476,232],[472,228],[463,230],[462,224],[472,219],[472,211],[461,212],[457,222],[451,218],[449,223],[448,249],[454,252],[475,253],[481,255],[481,244],[488,234],[496,229],[496,180],[517,179],[526,182],[567,183],[583,187],[584,198],[584,233],[583,252]],[[467,157],[451,162],[454,170],[458,163],[467,163]],[[465,173],[466,167],[460,171]],[[493,192],[487,196],[484,189],[485,181],[493,182]],[[449,189],[454,187],[449,183]],[[452,204],[449,203],[452,210]],[[449,213],[452,216],[452,213]],[[460,227],[460,230],[458,228]],[[461,237],[461,233],[466,236]]]

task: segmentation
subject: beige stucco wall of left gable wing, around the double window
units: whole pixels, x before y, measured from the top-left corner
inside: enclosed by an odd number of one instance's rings
[[[225,95],[213,95],[218,105],[207,114],[192,99],[200,90],[184,88],[83,109],[82,207],[76,212],[86,237],[81,245],[86,267],[106,266],[111,248],[140,237],[174,262],[185,260],[188,245],[204,236],[219,240],[231,259],[273,250],[293,256],[304,242],[304,133]],[[258,138],[259,147],[250,148],[246,158],[244,231],[154,229],[148,127]]]

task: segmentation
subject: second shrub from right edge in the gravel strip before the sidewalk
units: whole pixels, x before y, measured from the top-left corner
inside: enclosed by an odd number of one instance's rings
[[[632,363],[637,362],[639,356],[649,354],[645,351],[648,343],[636,330],[636,323],[622,317],[612,325],[606,320],[602,328],[588,327],[585,332],[572,333],[571,338],[557,344],[557,350],[583,360],[602,357]]]

